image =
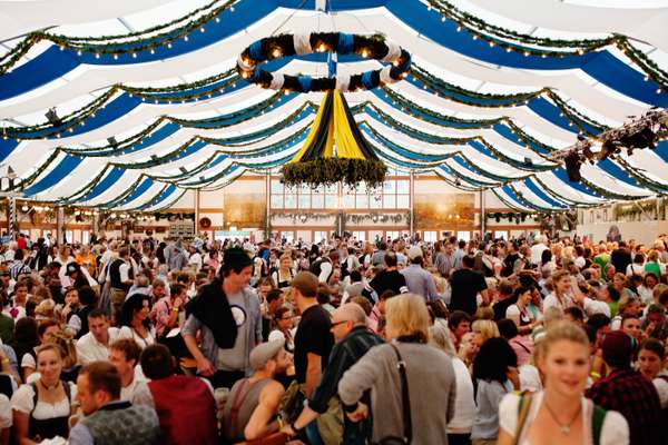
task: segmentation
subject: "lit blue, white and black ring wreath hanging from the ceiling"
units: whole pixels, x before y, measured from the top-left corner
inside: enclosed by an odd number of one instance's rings
[[[341,75],[336,78],[287,76],[273,73],[258,66],[267,60],[313,52],[336,52],[340,56],[355,53],[363,58],[387,62],[382,69],[360,75]],[[310,34],[282,34],[266,37],[246,48],[238,58],[237,71],[250,83],[273,90],[296,92],[371,90],[385,83],[394,83],[409,75],[411,55],[383,36],[357,36],[344,32],[312,32]]]

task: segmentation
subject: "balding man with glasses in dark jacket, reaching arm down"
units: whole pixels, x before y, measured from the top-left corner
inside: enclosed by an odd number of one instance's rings
[[[325,414],[331,408],[331,400],[336,397],[338,380],[343,374],[357,363],[369,349],[384,343],[381,337],[366,328],[366,314],[362,307],[353,303],[343,305],[334,312],[332,333],[337,343],[332,349],[330,363],[323,373],[321,384],[308,399],[308,405],[299,417],[283,429],[291,436]],[[370,404],[369,395],[365,398],[363,402]],[[365,444],[367,439],[371,439],[371,433],[369,419],[353,423],[347,416],[344,416],[344,444]]]

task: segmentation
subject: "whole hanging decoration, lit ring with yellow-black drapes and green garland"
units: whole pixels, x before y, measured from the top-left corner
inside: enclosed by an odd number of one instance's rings
[[[313,52],[354,53],[386,65],[361,75],[322,78],[272,73],[258,68],[269,59]],[[286,185],[307,184],[312,187],[338,181],[353,187],[360,182],[366,182],[370,188],[382,186],[387,167],[357,128],[343,92],[397,82],[409,75],[410,69],[411,55],[382,36],[343,32],[268,37],[246,48],[237,62],[239,75],[263,88],[326,92],[304,146],[281,169]]]

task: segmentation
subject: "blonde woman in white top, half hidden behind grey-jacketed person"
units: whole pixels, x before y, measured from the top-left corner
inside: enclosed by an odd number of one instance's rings
[[[473,399],[473,382],[469,368],[454,352],[446,324],[435,323],[429,328],[429,343],[452,359],[456,396],[454,399],[454,417],[448,424],[448,445],[465,445],[471,443],[471,427],[475,417],[475,400]]]

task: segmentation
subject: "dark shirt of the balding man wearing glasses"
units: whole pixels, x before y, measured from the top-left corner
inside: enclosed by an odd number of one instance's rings
[[[308,400],[308,407],[316,413],[325,413],[330,399],[338,390],[338,380],[369,349],[385,343],[366,326],[354,327],[345,338],[332,348],[330,362],[323,373],[320,385]]]

